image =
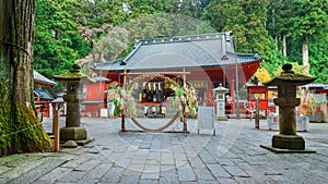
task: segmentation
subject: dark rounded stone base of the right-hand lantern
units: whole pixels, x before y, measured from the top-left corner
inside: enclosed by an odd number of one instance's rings
[[[280,149],[304,150],[305,142],[300,135],[278,134],[272,137],[272,147]]]

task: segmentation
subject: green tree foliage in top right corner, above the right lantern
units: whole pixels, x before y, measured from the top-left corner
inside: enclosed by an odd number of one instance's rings
[[[303,45],[308,45],[309,71],[319,83],[327,84],[327,10],[325,0],[271,0],[268,12],[268,30],[278,40],[282,50],[282,38],[286,37],[288,62],[303,64]]]

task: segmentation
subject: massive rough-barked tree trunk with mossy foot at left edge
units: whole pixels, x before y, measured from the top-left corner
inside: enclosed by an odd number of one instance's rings
[[[50,149],[35,115],[35,0],[0,0],[0,156]]]

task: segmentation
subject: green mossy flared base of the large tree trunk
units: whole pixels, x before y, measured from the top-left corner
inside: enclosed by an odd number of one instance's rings
[[[0,113],[5,114],[0,116],[0,156],[50,150],[51,140],[38,125],[32,108],[21,106],[12,109],[9,103],[2,103]]]

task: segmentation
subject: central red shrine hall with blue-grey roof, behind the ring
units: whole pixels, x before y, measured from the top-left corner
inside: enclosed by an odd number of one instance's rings
[[[262,58],[257,53],[237,53],[229,33],[137,40],[133,50],[124,59],[96,63],[92,70],[109,81],[99,81],[92,90],[104,90],[110,83],[122,85],[136,77],[140,82],[136,99],[140,103],[160,103],[169,97],[168,86],[163,75],[178,84],[191,85],[198,94],[199,106],[213,106],[212,89],[222,86],[230,89],[231,99],[226,110],[235,113],[238,90],[257,71]],[[150,77],[157,74],[156,77]],[[138,82],[139,83],[139,82]],[[87,89],[86,89],[87,90]],[[89,89],[91,90],[91,89]],[[93,91],[93,94],[102,94]],[[99,112],[87,106],[106,108],[106,97],[84,100],[85,113]],[[91,105],[93,102],[93,105]],[[101,103],[96,105],[95,103]],[[82,112],[83,113],[83,112]]]

